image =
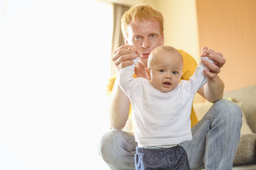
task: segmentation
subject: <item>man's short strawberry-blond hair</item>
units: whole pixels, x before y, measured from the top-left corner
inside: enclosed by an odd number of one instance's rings
[[[156,20],[159,22],[161,35],[163,35],[164,27],[164,19],[161,12],[155,10],[149,5],[138,5],[133,6],[130,8],[127,12],[124,13],[121,19],[121,26],[122,26],[122,33],[124,38],[127,38],[127,25],[130,24],[130,22],[134,22],[136,19],[142,21],[142,20]]]

